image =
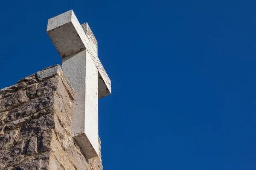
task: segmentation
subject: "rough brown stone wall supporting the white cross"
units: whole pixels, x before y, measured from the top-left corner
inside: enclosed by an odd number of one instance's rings
[[[103,169],[70,136],[74,95],[59,65],[0,90],[0,170]]]

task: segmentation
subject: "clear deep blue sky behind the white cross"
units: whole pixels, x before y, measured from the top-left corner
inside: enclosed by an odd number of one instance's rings
[[[253,0],[1,1],[0,89],[61,64],[47,20],[73,9],[112,81],[104,170],[256,169]]]

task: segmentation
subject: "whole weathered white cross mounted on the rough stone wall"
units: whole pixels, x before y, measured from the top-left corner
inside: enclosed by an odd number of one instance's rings
[[[73,10],[48,20],[47,33],[62,57],[62,69],[76,91],[71,135],[87,159],[99,155],[98,99],[111,94],[111,81],[98,58],[98,42]]]

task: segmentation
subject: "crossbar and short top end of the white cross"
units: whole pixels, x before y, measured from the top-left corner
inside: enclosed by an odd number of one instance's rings
[[[98,69],[98,97],[111,94],[111,80],[99,60],[97,40],[87,23],[81,25],[70,10],[49,19],[47,33],[62,58],[86,49]]]

